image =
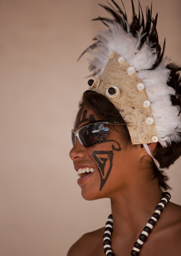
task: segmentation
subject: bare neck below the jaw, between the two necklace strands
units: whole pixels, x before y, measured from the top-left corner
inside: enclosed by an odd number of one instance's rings
[[[151,185],[137,184],[111,198],[115,236],[138,236],[154,213],[162,195],[157,180],[149,182]]]

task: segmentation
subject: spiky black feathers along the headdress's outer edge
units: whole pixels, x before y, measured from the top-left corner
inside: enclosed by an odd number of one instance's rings
[[[127,25],[126,25],[128,20],[127,20],[127,15],[126,15],[123,1],[121,0],[124,11],[120,8],[120,6],[114,0],[111,0],[111,2],[114,4],[115,7],[113,7],[109,2],[108,2],[108,4],[110,7],[106,6],[106,5],[102,5],[102,4],[99,4],[99,5],[101,7],[103,7],[107,12],[109,12],[113,16],[113,19],[108,19],[108,18],[99,16],[98,18],[93,19],[93,20],[100,20],[101,22],[103,22],[104,25],[106,25],[108,27],[109,27],[109,23],[112,24],[113,22],[117,22],[119,25],[121,25],[123,27],[125,32],[128,33]],[[151,68],[153,70],[160,64],[160,62],[162,61],[162,59],[164,57],[164,52],[165,52],[165,40],[164,40],[163,47],[161,50],[161,46],[159,44],[159,38],[158,38],[157,30],[156,30],[158,14],[156,14],[155,18],[152,18],[152,4],[151,4],[151,9],[149,9],[149,7],[146,7],[146,22],[145,22],[140,2],[139,2],[138,17],[135,13],[135,7],[134,7],[133,0],[131,0],[131,5],[132,5],[132,12],[133,12],[133,20],[130,24],[130,31],[133,34],[133,36],[136,37],[138,35],[137,31],[139,31],[140,28],[142,27],[143,34],[145,34],[141,38],[141,42],[138,47],[138,50],[141,49],[141,46],[147,40],[147,38],[149,39],[149,41],[151,43],[151,47],[156,49],[157,60],[154,64],[154,66]],[[140,10],[141,10],[141,15],[140,15]],[[87,52],[89,49],[93,50],[95,47],[98,46],[98,44],[100,42],[99,39],[94,38],[94,40],[97,40],[97,41],[95,43],[93,43],[91,46],[89,46],[81,54],[81,56],[79,58],[81,58],[82,55],[85,52]],[[78,60],[79,60],[79,58],[78,58]],[[90,66],[91,71],[95,70],[95,68],[96,67],[93,65]],[[172,104],[173,104],[173,106],[179,106],[181,109],[181,77],[179,74],[179,72],[181,71],[181,67],[175,65],[174,63],[169,63],[167,65],[167,68],[170,70],[170,79],[169,79],[169,81],[167,81],[167,85],[171,86],[172,88],[175,89],[175,95],[170,96]],[[93,75],[96,75],[96,72]],[[180,113],[181,113],[181,111],[180,111]]]

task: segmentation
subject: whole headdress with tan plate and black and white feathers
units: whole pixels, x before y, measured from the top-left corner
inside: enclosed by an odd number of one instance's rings
[[[123,11],[114,0],[111,1],[114,7],[109,3],[110,7],[100,6],[112,14],[114,19],[94,19],[102,21],[108,29],[99,31],[94,38],[95,42],[83,52],[90,52],[94,56],[89,68],[97,78],[90,89],[108,97],[125,121],[131,124],[128,129],[132,144],[159,141],[163,147],[167,147],[171,142],[179,142],[181,67],[164,58],[165,41],[161,50],[156,31],[157,14],[153,19],[152,7],[151,10],[147,7],[145,23],[140,3],[137,17],[131,0],[133,21],[128,25],[125,9]],[[132,68],[133,72],[127,73],[128,68]],[[144,86],[145,94],[141,94],[140,90],[136,92],[138,84]],[[118,88],[119,97],[109,97],[110,87]],[[142,104],[139,101],[144,102]],[[154,120],[151,126],[147,122],[149,118]]]

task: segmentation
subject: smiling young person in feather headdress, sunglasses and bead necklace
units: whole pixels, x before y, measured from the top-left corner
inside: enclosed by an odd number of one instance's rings
[[[181,155],[181,68],[163,58],[157,15],[147,8],[144,24],[132,2],[128,25],[112,2],[103,7],[114,20],[98,18],[108,30],[86,50],[96,77],[79,104],[70,152],[83,198],[110,198],[112,214],[68,256],[181,255],[181,206],[163,192],[164,169]]]

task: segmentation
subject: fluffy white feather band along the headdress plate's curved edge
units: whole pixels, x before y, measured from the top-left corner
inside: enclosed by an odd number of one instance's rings
[[[100,41],[97,52],[89,49],[89,52],[95,57],[90,62],[95,66],[95,72],[100,77],[100,70],[104,68],[108,62],[108,54],[110,51],[117,52],[123,56],[125,60],[135,68],[140,79],[146,88],[146,92],[151,102],[151,110],[157,131],[159,142],[163,147],[167,147],[172,141],[179,142],[181,140],[179,132],[181,132],[181,115],[178,117],[179,109],[172,106],[170,95],[175,94],[175,90],[167,86],[170,71],[166,68],[169,61],[168,58],[162,62],[154,70],[150,70],[157,60],[156,48],[152,48],[151,43],[147,39],[141,46],[140,40],[144,36],[143,29],[138,31],[135,38],[131,33],[126,33],[118,23],[109,23],[109,30],[99,31],[96,36]],[[128,31],[130,31],[127,24]]]

